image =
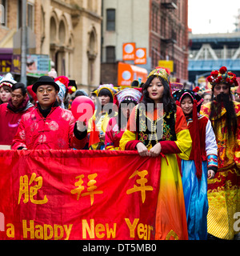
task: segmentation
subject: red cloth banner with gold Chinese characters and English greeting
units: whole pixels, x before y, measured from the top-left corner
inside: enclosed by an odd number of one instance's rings
[[[0,150],[0,239],[154,239],[161,158]]]

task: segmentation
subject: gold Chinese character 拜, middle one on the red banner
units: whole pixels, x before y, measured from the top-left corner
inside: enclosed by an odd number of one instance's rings
[[[83,193],[81,196],[82,197],[85,197],[87,195],[90,195],[90,201],[91,201],[91,206],[93,205],[94,203],[94,194],[102,194],[103,191],[102,190],[96,190],[97,189],[97,186],[94,186],[94,184],[96,183],[95,179],[98,176],[98,174],[90,174],[87,176],[87,178],[90,180],[89,182],[87,182],[87,191],[86,193]],[[84,186],[82,186],[83,184],[83,181],[82,181],[82,178],[84,178],[84,175],[79,175],[77,176],[76,178],[79,179],[78,182],[75,182],[74,185],[75,186],[78,186],[77,188],[75,188],[74,190],[71,190],[71,194],[78,194],[78,198],[80,197],[80,194],[82,193],[82,190],[85,189]]]

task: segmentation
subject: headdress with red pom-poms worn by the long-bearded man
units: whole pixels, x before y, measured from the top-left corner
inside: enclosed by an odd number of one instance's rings
[[[236,75],[231,71],[227,71],[226,66],[222,66],[219,71],[213,70],[207,81],[210,82],[212,86],[223,83],[230,87],[238,86],[238,81]]]

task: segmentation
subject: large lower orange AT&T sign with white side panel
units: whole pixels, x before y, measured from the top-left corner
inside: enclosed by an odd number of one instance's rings
[[[138,80],[146,82],[147,70],[122,62],[118,62],[118,86],[130,86],[131,82]]]

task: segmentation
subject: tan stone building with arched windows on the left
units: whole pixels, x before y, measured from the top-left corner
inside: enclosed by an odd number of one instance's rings
[[[21,27],[22,0],[2,0],[5,22],[0,48],[14,47]],[[58,75],[74,79],[78,88],[92,90],[100,82],[101,0],[28,0],[26,23],[34,32],[34,54],[47,54]]]

